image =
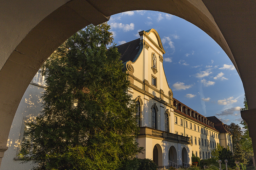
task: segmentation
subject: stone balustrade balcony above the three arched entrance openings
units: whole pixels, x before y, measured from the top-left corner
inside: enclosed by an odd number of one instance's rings
[[[183,144],[191,144],[190,137],[185,137],[178,134],[153,129],[151,127],[141,127],[140,134],[138,135],[138,137],[160,138],[160,139],[162,138],[162,140],[175,141]]]

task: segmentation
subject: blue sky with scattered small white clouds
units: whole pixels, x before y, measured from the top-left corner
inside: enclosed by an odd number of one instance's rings
[[[108,24],[117,45],[154,28],[165,49],[164,70],[173,97],[204,116],[239,124],[242,81],[222,48],[204,31],[182,18],[157,11],[128,11]]]

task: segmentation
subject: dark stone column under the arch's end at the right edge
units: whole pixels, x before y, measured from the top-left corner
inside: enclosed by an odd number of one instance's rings
[[[253,143],[254,159],[256,160],[256,109],[249,109],[241,111],[241,117],[244,119],[249,129],[249,136]]]

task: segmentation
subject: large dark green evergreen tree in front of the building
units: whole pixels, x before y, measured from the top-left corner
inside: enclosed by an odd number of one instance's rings
[[[20,152],[35,170],[114,170],[142,151],[127,74],[117,48],[107,49],[109,29],[107,23],[87,26],[43,65],[43,111],[29,124],[31,142]]]

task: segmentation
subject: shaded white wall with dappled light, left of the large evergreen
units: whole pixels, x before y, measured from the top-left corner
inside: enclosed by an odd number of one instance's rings
[[[35,121],[35,117],[42,111],[41,94],[44,92],[44,81],[40,72],[37,72],[26,92],[24,93],[20,105],[16,111],[9,132],[7,146],[8,149],[2,159],[0,170],[21,170],[31,169],[33,164],[21,164],[17,157],[22,142],[26,142],[26,123]]]

